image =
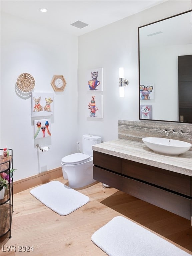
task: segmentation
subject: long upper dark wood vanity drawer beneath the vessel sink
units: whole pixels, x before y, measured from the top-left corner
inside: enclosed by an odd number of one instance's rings
[[[122,159],[122,174],[190,196],[190,176]]]

